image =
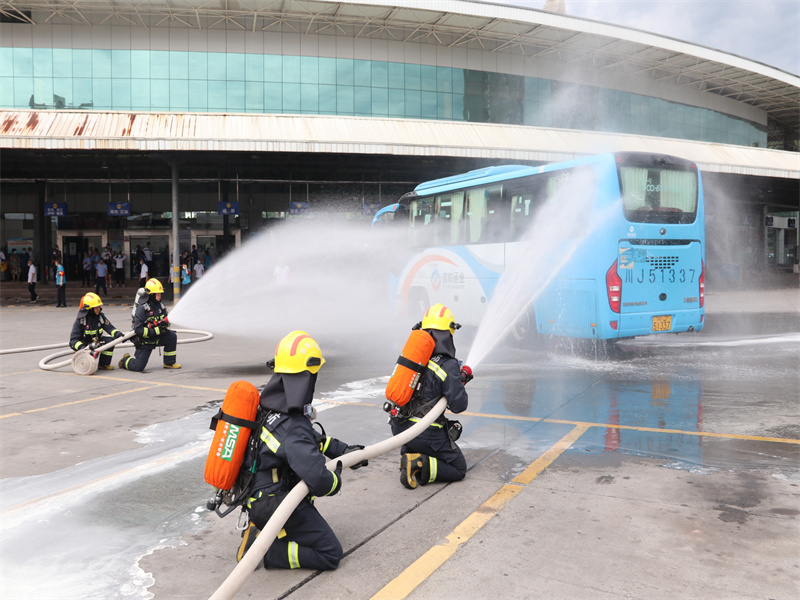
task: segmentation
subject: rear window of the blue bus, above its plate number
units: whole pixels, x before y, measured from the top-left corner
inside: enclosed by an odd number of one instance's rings
[[[634,223],[693,223],[697,172],[621,166],[622,207]]]

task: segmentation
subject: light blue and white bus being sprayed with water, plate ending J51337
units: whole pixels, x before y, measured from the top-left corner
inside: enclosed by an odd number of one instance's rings
[[[569,208],[542,223],[553,204]],[[617,152],[478,169],[421,183],[373,220],[390,223],[407,228],[417,252],[396,279],[403,315],[442,302],[477,326],[512,263],[546,260],[545,287],[511,328],[518,339],[531,329],[615,340],[703,327],[703,191],[684,159]],[[570,245],[564,260],[542,259],[536,235],[562,230],[544,245]]]

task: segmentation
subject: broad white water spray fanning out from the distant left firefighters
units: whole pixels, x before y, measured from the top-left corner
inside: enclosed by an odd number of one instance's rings
[[[367,223],[282,223],[214,263],[170,320],[269,344],[295,329],[315,337],[387,331],[388,338],[398,321],[389,312],[389,273],[408,259],[405,239],[405,231]],[[288,276],[276,277],[276,266]]]

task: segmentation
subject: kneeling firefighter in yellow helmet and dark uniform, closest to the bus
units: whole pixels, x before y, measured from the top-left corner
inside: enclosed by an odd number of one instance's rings
[[[453,343],[455,330],[461,327],[453,313],[443,304],[431,306],[422,323],[415,325],[427,331],[436,342],[419,393],[392,416],[392,434],[405,431],[424,417],[441,396],[447,398],[447,408],[454,413],[467,409],[464,388],[472,379],[472,369],[460,366]],[[434,481],[461,481],[467,474],[467,461],[455,441],[461,434],[461,424],[444,415],[434,421],[419,436],[400,449],[400,483],[408,489],[417,484]]]

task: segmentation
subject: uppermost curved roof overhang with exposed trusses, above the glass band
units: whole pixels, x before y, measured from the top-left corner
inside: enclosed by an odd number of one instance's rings
[[[711,48],[561,14],[462,0],[0,0],[8,20],[232,28],[415,41],[647,74],[749,104],[795,132],[800,77]]]

